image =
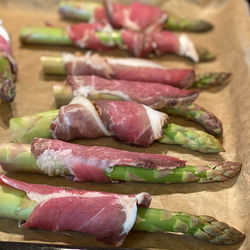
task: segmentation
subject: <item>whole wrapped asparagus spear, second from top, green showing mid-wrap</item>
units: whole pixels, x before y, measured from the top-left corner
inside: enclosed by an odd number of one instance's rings
[[[169,31],[157,30],[150,33],[108,30],[101,23],[79,23],[67,29],[26,27],[20,33],[20,40],[24,44],[75,45],[81,49],[97,51],[119,47],[129,50],[136,57],[145,57],[150,53],[172,53],[187,57],[196,63],[215,58],[207,49],[195,48],[194,43],[185,34],[177,36]]]

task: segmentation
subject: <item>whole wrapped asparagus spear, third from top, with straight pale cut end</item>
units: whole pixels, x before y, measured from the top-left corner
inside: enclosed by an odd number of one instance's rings
[[[107,79],[155,82],[178,88],[209,88],[227,81],[230,73],[197,74],[193,69],[169,69],[149,60],[112,58],[98,54],[41,57],[46,74],[97,75]]]

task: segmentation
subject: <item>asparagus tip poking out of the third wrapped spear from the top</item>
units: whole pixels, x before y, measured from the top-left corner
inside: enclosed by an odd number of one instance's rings
[[[231,73],[226,72],[210,72],[196,75],[195,81],[191,88],[205,89],[217,87],[230,81]]]

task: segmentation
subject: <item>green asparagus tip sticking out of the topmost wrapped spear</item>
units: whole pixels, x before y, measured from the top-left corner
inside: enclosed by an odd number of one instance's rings
[[[212,28],[211,23],[203,20],[177,19],[173,16],[168,17],[164,25],[164,29],[187,32],[207,32]]]

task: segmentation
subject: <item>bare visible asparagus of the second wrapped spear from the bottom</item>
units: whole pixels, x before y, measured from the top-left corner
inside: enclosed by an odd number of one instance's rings
[[[6,171],[44,173],[36,164],[35,156],[28,144],[0,144],[0,164]],[[64,173],[68,170],[65,166]],[[114,166],[105,171],[105,175],[113,181],[152,182],[152,183],[206,183],[224,181],[235,176],[241,169],[236,162],[218,162],[204,166],[187,165],[173,170],[154,170],[130,166]],[[70,174],[70,173],[68,173]]]

